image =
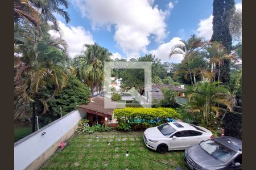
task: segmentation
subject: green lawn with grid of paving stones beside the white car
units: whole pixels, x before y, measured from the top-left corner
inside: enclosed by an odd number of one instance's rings
[[[96,138],[98,135],[98,138]],[[110,145],[107,145],[110,142]],[[126,157],[126,150],[129,156]],[[75,134],[40,169],[187,169],[184,151],[159,154],[143,142],[143,131]]]

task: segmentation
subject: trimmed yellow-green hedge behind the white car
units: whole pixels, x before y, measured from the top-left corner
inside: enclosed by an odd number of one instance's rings
[[[114,109],[114,117],[118,121],[119,130],[136,128],[148,128],[165,122],[181,119],[175,109],[172,108],[124,108]]]

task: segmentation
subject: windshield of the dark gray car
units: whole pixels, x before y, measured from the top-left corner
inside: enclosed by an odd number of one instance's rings
[[[227,162],[232,158],[236,152],[230,150],[229,148],[217,143],[214,140],[208,140],[200,143],[201,148],[212,155],[214,158],[221,160],[222,162]]]

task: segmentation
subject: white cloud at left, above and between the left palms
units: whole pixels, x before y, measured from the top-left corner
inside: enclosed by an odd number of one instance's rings
[[[84,44],[94,44],[92,34],[83,27],[67,27],[64,23],[58,21],[61,28],[63,39],[67,41],[69,46],[69,57],[73,58],[76,54],[80,54],[84,48]],[[56,31],[49,31],[51,35],[60,36]]]

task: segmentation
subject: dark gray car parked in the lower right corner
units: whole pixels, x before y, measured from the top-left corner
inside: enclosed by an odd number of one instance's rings
[[[192,170],[242,169],[242,141],[218,137],[187,148],[185,164]]]

